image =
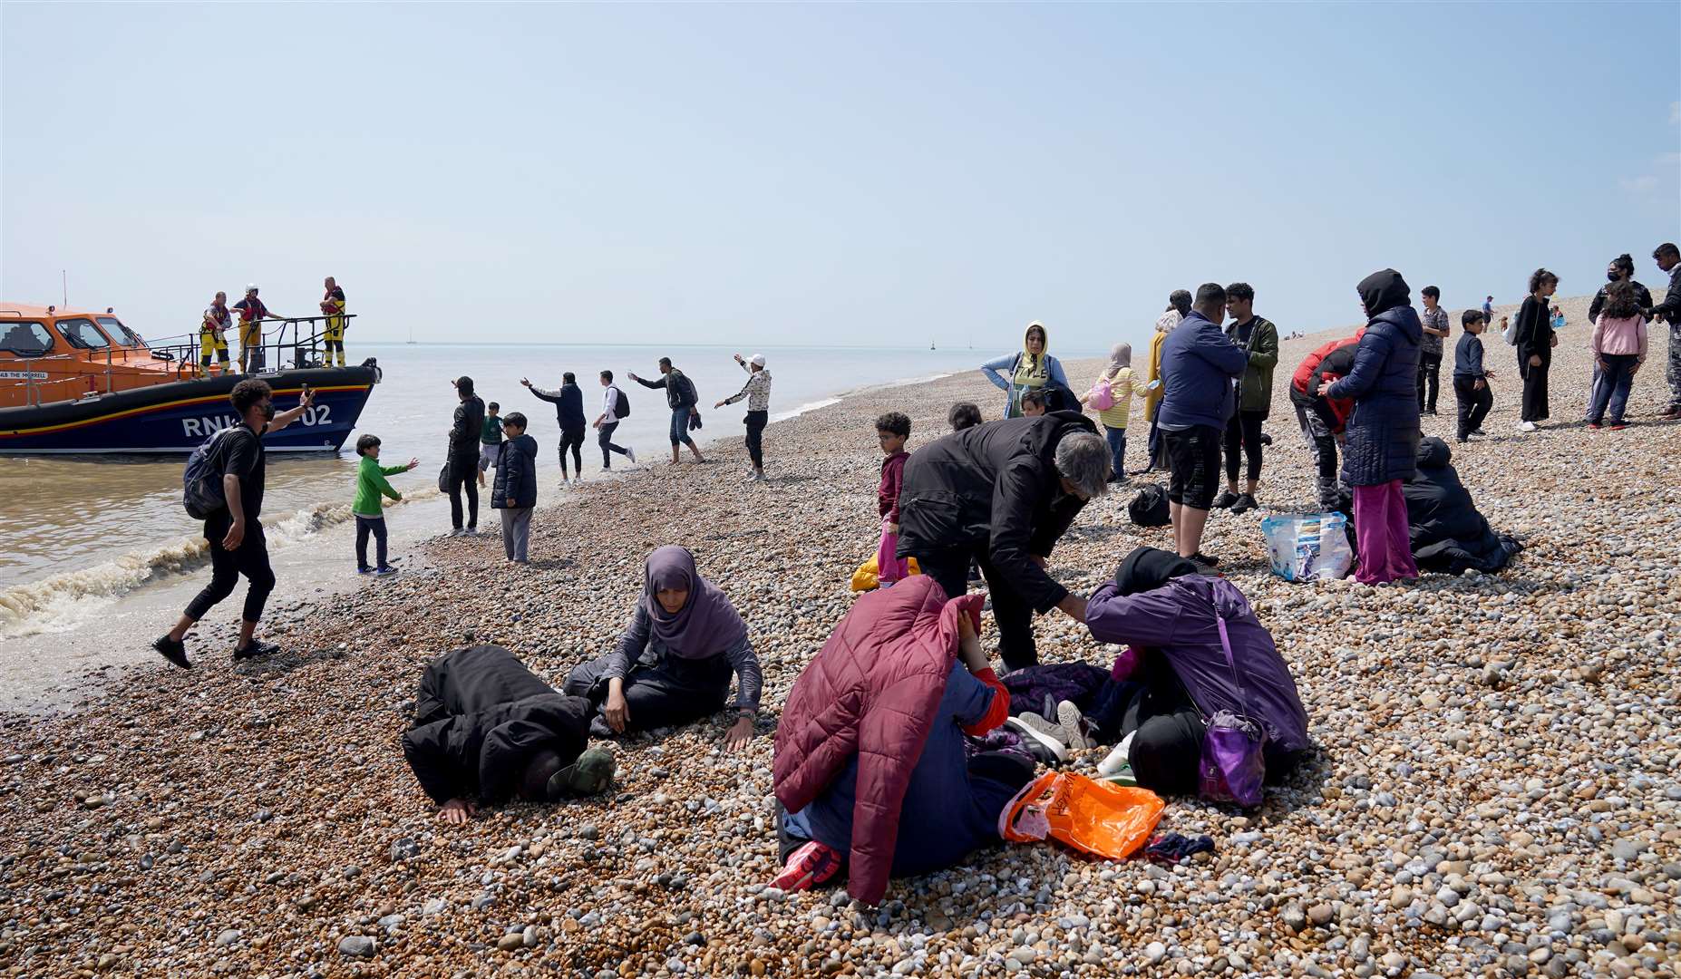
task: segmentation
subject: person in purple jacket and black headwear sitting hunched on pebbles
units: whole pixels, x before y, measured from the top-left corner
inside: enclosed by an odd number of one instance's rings
[[[1116,678],[1086,712],[1099,742],[1120,747],[1099,771],[1133,769],[1138,784],[1162,794],[1200,789],[1207,722],[1220,714],[1254,720],[1266,732],[1266,781],[1286,776],[1308,747],[1308,714],[1289,675],[1237,586],[1197,573],[1190,561],[1136,547],[1115,581],[1086,603],[1086,628],[1099,643],[1128,652]]]

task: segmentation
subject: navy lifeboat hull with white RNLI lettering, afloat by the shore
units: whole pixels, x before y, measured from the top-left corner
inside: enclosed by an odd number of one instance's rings
[[[267,452],[338,452],[378,383],[378,366],[313,368],[257,374],[274,388],[274,408],[304,416],[262,440]],[[227,395],[242,374],[171,381],[39,406],[0,408],[0,455],[185,453],[239,418]]]

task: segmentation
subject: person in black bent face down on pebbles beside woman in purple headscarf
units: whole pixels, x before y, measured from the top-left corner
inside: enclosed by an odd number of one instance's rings
[[[556,694],[503,647],[469,647],[427,665],[403,757],[437,818],[461,825],[472,799],[543,803],[614,781],[612,752],[588,744],[590,702]]]

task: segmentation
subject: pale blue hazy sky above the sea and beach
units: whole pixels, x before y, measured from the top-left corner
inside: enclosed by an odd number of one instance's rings
[[[1681,238],[1681,3],[0,5],[0,299],[350,341],[1283,332]]]

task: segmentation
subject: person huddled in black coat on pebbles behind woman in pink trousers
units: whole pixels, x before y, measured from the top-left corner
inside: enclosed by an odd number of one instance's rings
[[[1412,556],[1420,571],[1499,571],[1521,544],[1489,529],[1449,458],[1452,450],[1446,442],[1425,438],[1419,447],[1419,470],[1400,485],[1407,497]]]

